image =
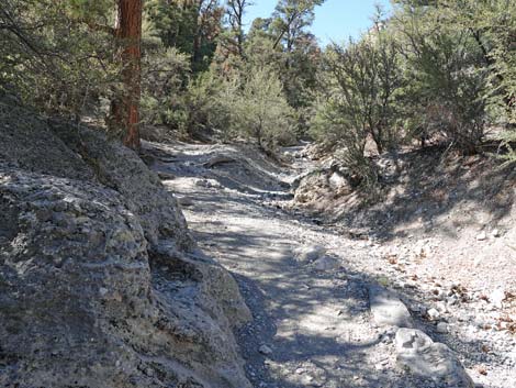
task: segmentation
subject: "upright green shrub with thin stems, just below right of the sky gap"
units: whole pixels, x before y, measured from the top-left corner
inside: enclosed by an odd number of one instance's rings
[[[375,173],[364,156],[368,138],[379,151],[397,141],[396,92],[402,85],[396,44],[377,32],[346,46],[334,44],[324,58],[324,91],[313,122],[318,140],[346,148],[344,163],[366,184]]]

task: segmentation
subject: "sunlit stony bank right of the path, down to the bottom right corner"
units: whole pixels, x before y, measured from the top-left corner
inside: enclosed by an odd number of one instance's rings
[[[355,241],[354,251],[363,253],[360,266],[402,292],[412,314],[464,355],[479,384],[511,386],[514,166],[436,147],[384,154],[375,159],[379,197],[368,203],[328,154],[305,148],[291,155],[311,168],[294,181],[295,200],[279,206],[310,213],[317,224]]]

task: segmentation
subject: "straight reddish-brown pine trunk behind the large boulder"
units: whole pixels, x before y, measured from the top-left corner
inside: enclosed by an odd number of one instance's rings
[[[124,90],[111,103],[112,125],[122,131],[126,146],[139,149],[142,0],[119,0],[117,5],[115,37]]]

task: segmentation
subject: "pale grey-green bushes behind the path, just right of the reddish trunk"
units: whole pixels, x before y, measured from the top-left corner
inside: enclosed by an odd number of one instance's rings
[[[176,90],[180,90],[179,85]],[[268,151],[295,141],[294,111],[270,68],[253,69],[248,77],[235,73],[231,78],[207,71],[194,78],[183,91],[162,96],[159,100],[149,99],[149,111],[154,114],[147,117],[183,136],[253,138]]]

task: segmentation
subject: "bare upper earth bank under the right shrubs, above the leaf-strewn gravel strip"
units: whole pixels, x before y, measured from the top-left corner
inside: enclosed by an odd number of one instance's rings
[[[375,159],[377,197],[367,199],[335,158],[317,157],[317,167],[296,181],[294,208],[374,240],[396,265],[417,262],[418,275],[433,273],[485,295],[514,288],[514,166],[437,147],[384,154]]]

